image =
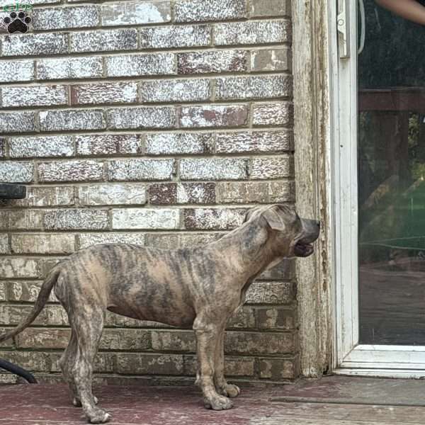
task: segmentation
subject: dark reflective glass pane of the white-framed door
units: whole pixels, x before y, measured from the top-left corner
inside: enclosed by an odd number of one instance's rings
[[[360,343],[425,345],[425,26],[374,0],[363,3],[365,46],[358,56]]]

